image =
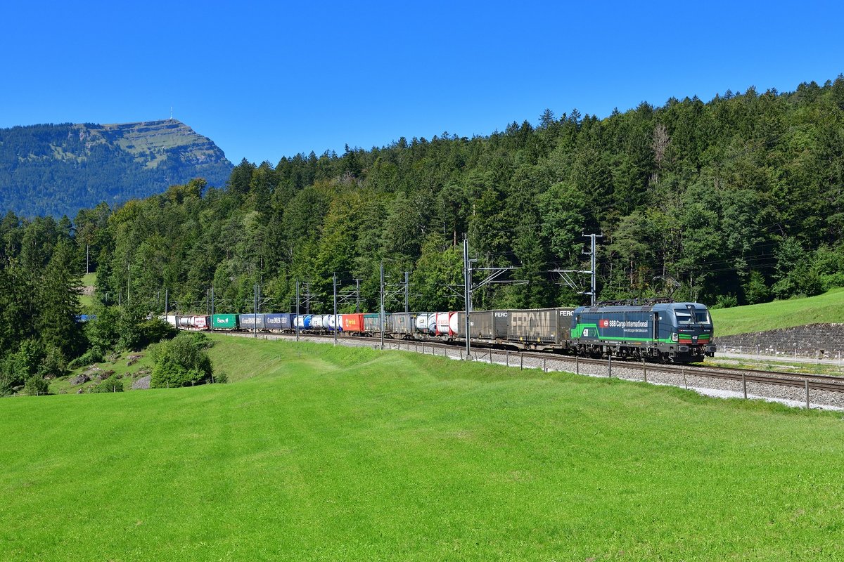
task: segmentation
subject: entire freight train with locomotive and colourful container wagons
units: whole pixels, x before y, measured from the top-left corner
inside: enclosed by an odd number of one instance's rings
[[[381,336],[379,314],[167,316],[182,329]],[[614,302],[594,307],[387,313],[383,335],[579,356],[689,363],[714,356],[712,322],[697,302]]]

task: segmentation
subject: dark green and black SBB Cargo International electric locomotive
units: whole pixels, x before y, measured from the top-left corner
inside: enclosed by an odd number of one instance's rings
[[[600,303],[575,308],[576,353],[675,363],[715,355],[709,310],[698,302]]]

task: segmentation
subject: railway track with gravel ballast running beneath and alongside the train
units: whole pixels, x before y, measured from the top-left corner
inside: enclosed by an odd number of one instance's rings
[[[241,337],[256,337],[247,333],[218,332],[226,335]],[[294,339],[289,334],[258,334],[257,337],[270,340]],[[300,335],[302,340],[333,340],[333,335]],[[380,340],[362,336],[340,336],[338,341],[354,342],[357,345],[380,347]],[[417,351],[425,354],[440,355],[452,359],[465,359],[463,345],[454,345],[438,341],[416,340],[384,340],[385,349],[400,349]],[[701,367],[695,365],[672,365],[661,363],[647,363],[622,359],[593,359],[588,357],[565,356],[556,353],[537,351],[506,351],[490,347],[473,347],[473,361],[489,361],[509,367],[540,368],[544,372],[565,371],[576,374],[597,377],[619,377],[630,380],[644,380],[661,383],[665,380],[682,379],[680,386],[689,387],[689,379],[710,379],[732,386],[729,390],[741,392],[744,397],[749,396],[749,385],[755,391],[753,395],[763,398],[783,399],[782,396],[766,392],[766,388],[783,388],[789,391],[786,399],[803,401],[811,404],[828,404],[844,406],[844,377],[830,377],[828,375],[814,375],[804,373],[782,373],[760,371],[754,369],[738,369],[734,367]],[[677,380],[674,382],[677,383]],[[708,388],[707,385],[693,385]],[[738,388],[735,388],[738,387]],[[802,396],[795,396],[794,391],[802,391]],[[814,400],[812,393],[814,393]],[[829,399],[828,394],[835,396]]]

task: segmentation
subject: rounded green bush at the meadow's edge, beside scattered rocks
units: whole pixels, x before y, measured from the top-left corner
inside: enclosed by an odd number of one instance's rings
[[[150,386],[183,387],[208,382],[212,367],[205,350],[210,345],[212,342],[204,334],[180,334],[156,345],[150,351],[154,361]]]

